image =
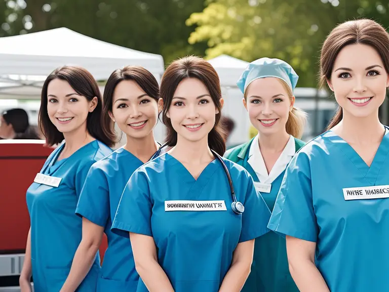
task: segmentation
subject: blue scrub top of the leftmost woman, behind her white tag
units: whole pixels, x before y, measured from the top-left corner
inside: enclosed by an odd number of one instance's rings
[[[92,164],[112,150],[94,140],[57,161],[65,143],[49,156],[40,173],[60,177],[58,187],[33,182],[26,194],[31,221],[31,262],[34,289],[38,292],[59,291],[81,242],[82,219],[74,214],[85,178]],[[96,291],[100,256],[77,291]]]

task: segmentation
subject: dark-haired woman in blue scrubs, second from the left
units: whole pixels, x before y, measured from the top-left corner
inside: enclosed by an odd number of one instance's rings
[[[74,255],[64,291],[73,291],[84,279],[104,232],[108,248],[97,291],[136,291],[139,275],[135,270],[130,239],[113,234],[110,229],[131,174],[159,147],[153,135],[158,121],[158,98],[157,80],[139,66],[115,70],[105,85],[103,125],[112,128],[115,122],[126,134],[127,143],[89,170],[76,208],[76,214],[83,217],[83,238]]]

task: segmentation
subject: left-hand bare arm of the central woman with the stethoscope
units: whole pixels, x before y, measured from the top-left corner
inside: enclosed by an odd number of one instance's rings
[[[150,292],[174,292],[165,271],[157,260],[157,249],[151,236],[130,232],[135,269]]]

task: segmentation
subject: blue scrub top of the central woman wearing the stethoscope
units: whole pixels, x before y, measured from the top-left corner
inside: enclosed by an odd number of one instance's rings
[[[217,292],[239,242],[257,238],[266,228],[270,211],[256,192],[250,174],[227,159],[225,162],[243,214],[231,209],[232,197],[221,163],[213,160],[196,180],[168,153],[141,166],[131,176],[119,203],[112,230],[152,236],[158,262],[176,292]],[[169,209],[167,201],[196,211]],[[222,201],[226,210],[202,209]],[[221,203],[221,205],[223,204]],[[209,205],[208,205],[209,206]],[[215,205],[214,205],[215,206]],[[165,211],[166,210],[166,211]],[[137,291],[147,291],[139,280]]]

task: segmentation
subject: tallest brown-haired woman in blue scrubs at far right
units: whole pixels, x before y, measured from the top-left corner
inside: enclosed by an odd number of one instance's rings
[[[300,291],[389,291],[389,35],[372,20],[340,24],[321,52],[339,110],[291,160],[268,227],[286,235]]]

